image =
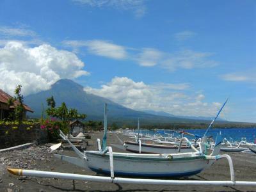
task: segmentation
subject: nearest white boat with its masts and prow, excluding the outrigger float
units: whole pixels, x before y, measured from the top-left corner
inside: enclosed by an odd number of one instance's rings
[[[227,102],[227,100],[226,100]],[[225,106],[223,104],[221,109]],[[220,111],[221,111],[220,109]],[[55,155],[63,161],[82,166],[83,168],[89,168],[97,173],[111,173],[111,169],[115,172],[115,175],[129,175],[129,176],[141,176],[141,177],[184,177],[188,175],[195,175],[202,172],[205,168],[210,166],[216,159],[220,152],[220,143],[216,141],[213,151],[210,148],[205,147],[207,143],[206,134],[209,131],[212,123],[218,114],[212,120],[204,138],[200,143],[200,150],[191,145],[187,138],[182,138],[180,141],[179,149],[183,140],[188,142],[194,152],[180,153],[180,154],[129,154],[129,153],[116,153],[112,152],[111,147],[106,146],[106,133],[107,133],[107,112],[106,104],[104,110],[104,136],[100,145],[99,139],[97,140],[97,151],[84,151],[84,153],[77,150],[74,145],[68,141],[67,137],[61,132],[60,136],[63,140],[67,140],[72,146],[76,154],[80,158],[68,157],[62,155]],[[204,146],[204,147],[203,147]],[[115,163],[113,163],[115,162]],[[115,164],[115,166],[113,166]],[[112,168],[111,168],[112,167]]]

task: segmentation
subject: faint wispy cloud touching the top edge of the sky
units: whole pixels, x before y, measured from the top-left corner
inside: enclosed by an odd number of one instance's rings
[[[145,0],[73,0],[75,3],[95,8],[115,8],[116,10],[130,10],[136,17],[146,13]]]

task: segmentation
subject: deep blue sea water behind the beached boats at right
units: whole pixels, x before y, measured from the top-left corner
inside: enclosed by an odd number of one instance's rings
[[[189,132],[191,134],[196,134],[199,136],[204,136],[206,129],[183,129],[182,131]],[[140,130],[142,134],[162,134],[163,132],[174,134],[174,136],[180,136],[177,132],[170,131],[168,129],[159,129],[158,131],[150,130]],[[220,137],[221,140],[226,138],[230,141],[241,141],[242,138],[246,138],[246,141],[251,143],[256,143],[256,127],[255,128],[220,128],[220,129],[210,129],[207,136],[212,136],[215,140],[216,136]],[[187,138],[191,139],[193,137],[184,134]]]

